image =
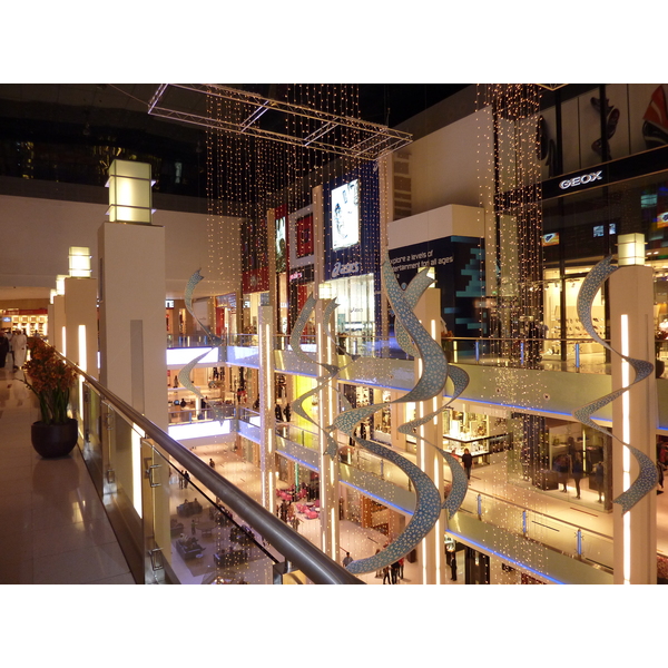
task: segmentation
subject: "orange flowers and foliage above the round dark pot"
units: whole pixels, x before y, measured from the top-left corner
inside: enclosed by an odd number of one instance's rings
[[[41,338],[33,338],[28,348],[30,360],[24,369],[30,382],[23,382],[39,400],[41,422],[66,424],[69,392],[77,380],[77,372],[56,355],[55,347]]]

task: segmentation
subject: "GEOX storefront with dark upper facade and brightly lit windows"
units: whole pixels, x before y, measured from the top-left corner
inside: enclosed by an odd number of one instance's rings
[[[570,98],[556,95],[553,106],[541,109],[542,145],[549,147],[542,167],[543,354],[561,360],[572,357],[574,347],[564,340],[589,338],[576,312],[579,287],[593,265],[617,253],[621,235],[645,236],[657,333],[668,315],[668,134],[652,130],[666,87],[569,88]],[[601,141],[607,122],[612,125]],[[606,285],[592,314],[602,338],[609,338],[607,313]],[[603,356],[598,344],[579,352]]]

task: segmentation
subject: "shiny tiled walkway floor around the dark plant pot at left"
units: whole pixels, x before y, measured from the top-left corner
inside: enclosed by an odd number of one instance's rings
[[[30,391],[0,369],[0,583],[134,584],[78,448],[43,460],[30,444]]]

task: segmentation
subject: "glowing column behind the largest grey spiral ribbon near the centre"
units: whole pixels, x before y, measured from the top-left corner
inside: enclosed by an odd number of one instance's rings
[[[430,333],[432,338],[440,341],[441,337],[441,291],[428,288],[414,311],[422,326]],[[415,377],[423,374],[422,360],[415,360]],[[423,418],[436,411],[443,402],[442,396],[435,396],[429,401],[418,402],[415,411],[418,418]],[[443,446],[443,414],[423,424],[418,435],[423,436],[430,443],[439,448]],[[416,463],[434,482],[441,498],[443,498],[443,460],[431,446],[418,439]],[[434,528],[426,534],[419,546],[419,561],[421,566],[422,584],[443,584],[445,582],[445,553],[443,548],[443,531],[445,530],[445,512]]]

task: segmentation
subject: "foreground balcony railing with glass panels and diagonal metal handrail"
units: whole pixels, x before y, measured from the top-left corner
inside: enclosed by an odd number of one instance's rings
[[[82,455],[136,581],[266,584],[301,572],[314,583],[362,583],[75,369]]]

